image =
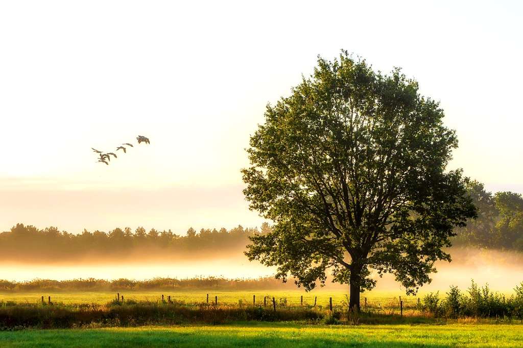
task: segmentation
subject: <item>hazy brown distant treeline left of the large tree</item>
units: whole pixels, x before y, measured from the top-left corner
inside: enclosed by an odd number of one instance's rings
[[[238,226],[230,230],[201,229],[197,232],[191,227],[186,235],[178,235],[171,230],[153,228],[147,232],[143,227],[134,231],[126,227],[109,232],[84,230],[73,234],[56,227],[41,230],[18,223],[10,231],[0,233],[0,261],[95,261],[95,257],[107,261],[142,254],[148,259],[179,254],[184,257],[217,254],[243,250],[250,235],[268,230],[269,225],[264,223],[261,231]]]

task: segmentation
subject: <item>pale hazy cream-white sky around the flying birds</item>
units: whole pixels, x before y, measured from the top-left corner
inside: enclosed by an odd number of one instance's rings
[[[0,230],[259,226],[249,134],[342,48],[441,101],[453,168],[522,193],[521,4],[0,2]]]

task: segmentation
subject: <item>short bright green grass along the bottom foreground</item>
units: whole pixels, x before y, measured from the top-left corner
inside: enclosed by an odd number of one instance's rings
[[[23,347],[520,347],[521,325],[360,325],[241,323],[0,332],[2,348]]]

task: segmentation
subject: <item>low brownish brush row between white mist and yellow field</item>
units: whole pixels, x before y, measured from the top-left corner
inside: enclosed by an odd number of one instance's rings
[[[259,290],[294,288],[292,281],[282,283],[274,277],[257,279],[228,278],[153,278],[133,280],[120,278],[50,280],[33,279],[26,282],[0,280],[0,291],[104,291],[104,290]]]

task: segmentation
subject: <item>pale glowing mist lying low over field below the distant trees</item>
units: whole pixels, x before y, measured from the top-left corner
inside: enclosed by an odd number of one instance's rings
[[[488,284],[490,288],[502,292],[510,292],[516,285],[523,282],[523,254],[518,252],[480,250],[477,248],[450,249],[452,262],[440,261],[436,264],[437,273],[431,274],[433,281],[420,288],[420,293],[426,291],[445,292],[449,286],[467,289],[471,279],[477,284]],[[55,260],[54,262],[35,263],[23,260],[0,261],[0,278],[22,282],[35,278],[67,280],[74,278],[100,279],[150,279],[154,277],[192,278],[192,277],[224,277],[224,278],[258,278],[270,277],[276,272],[275,267],[266,267],[257,261],[248,261],[243,250],[199,253],[194,255],[171,255],[171,257],[154,257],[154,254],[135,253],[124,259],[115,260],[83,259],[82,261]],[[386,291],[398,294],[403,288],[390,274],[379,278],[373,291]],[[288,288],[295,285],[292,280]],[[326,283],[326,288],[344,289],[345,285]]]

